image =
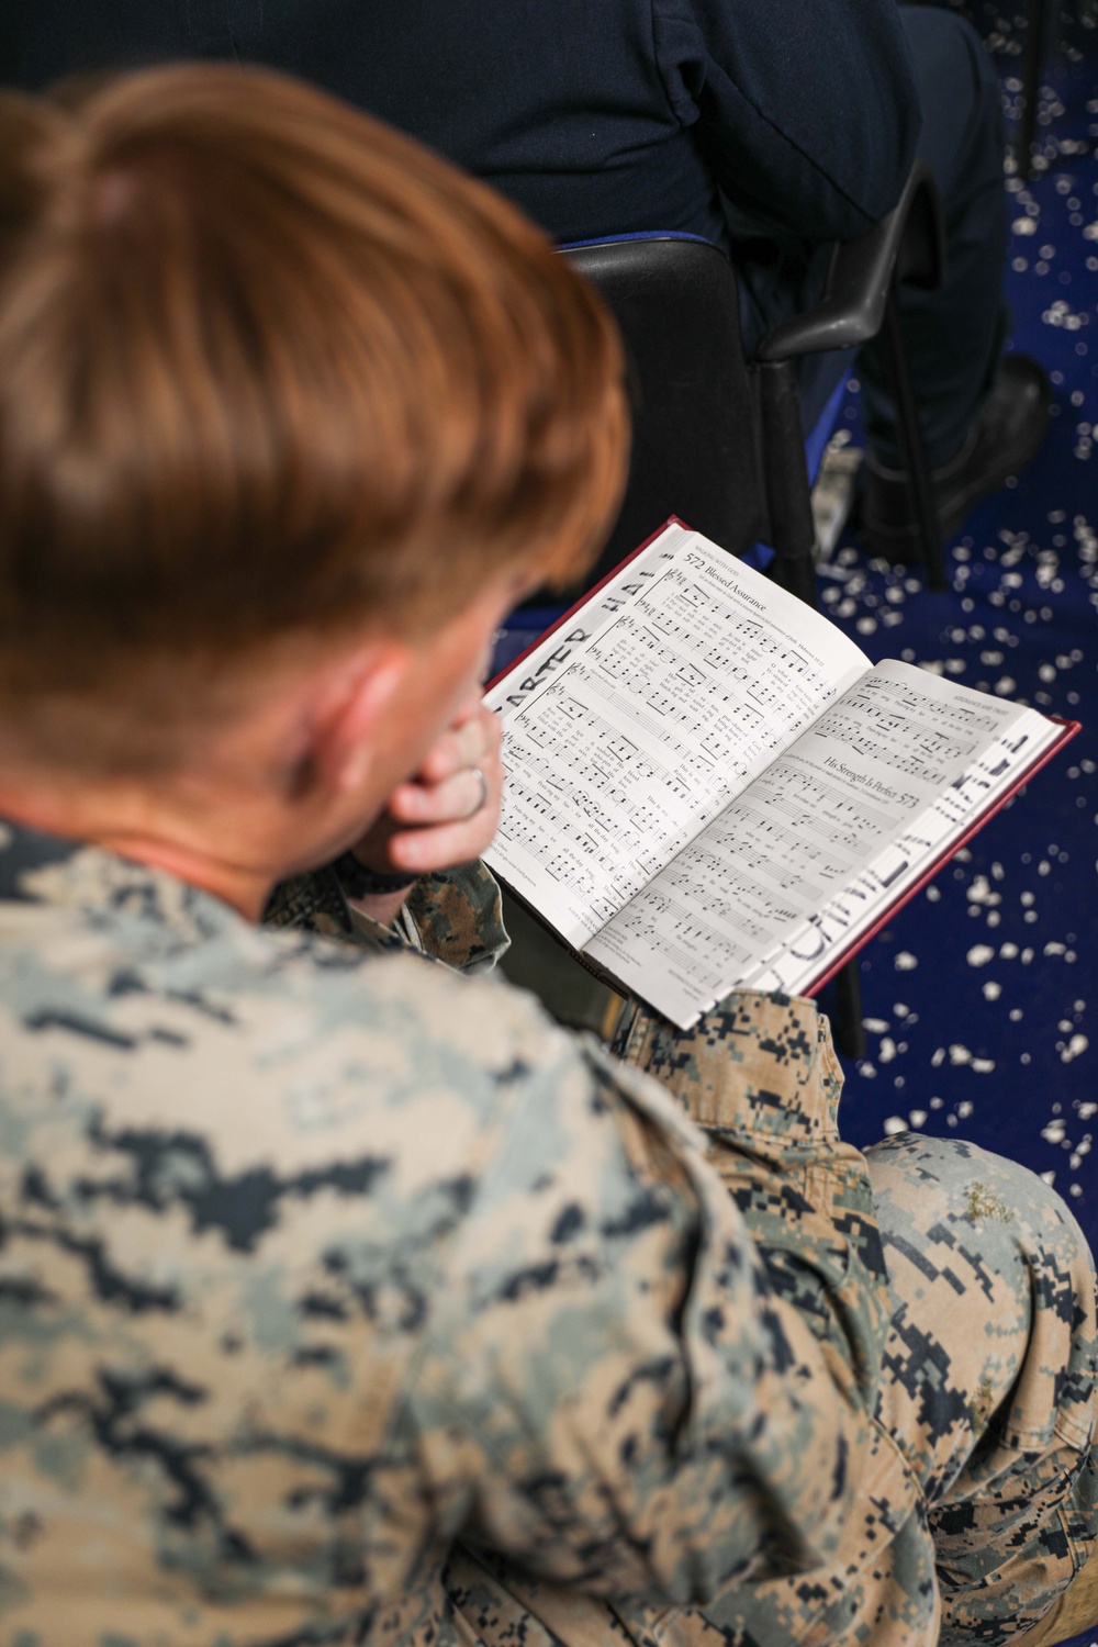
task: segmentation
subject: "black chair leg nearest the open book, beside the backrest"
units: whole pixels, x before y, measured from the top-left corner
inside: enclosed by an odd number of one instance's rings
[[[817,608],[817,524],[812,514],[797,371],[792,361],[764,361],[752,371],[759,382],[762,476],[774,575],[792,595]]]

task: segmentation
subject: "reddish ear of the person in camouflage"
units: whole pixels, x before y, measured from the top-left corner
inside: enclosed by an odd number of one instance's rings
[[[314,782],[351,794],[361,789],[375,759],[379,728],[392,725],[415,659],[398,641],[362,649],[314,705],[311,771]]]

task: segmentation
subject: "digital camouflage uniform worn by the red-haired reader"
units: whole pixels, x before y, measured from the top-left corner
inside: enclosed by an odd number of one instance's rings
[[[808,1001],[576,1041],[454,970],[486,871],[397,932],[331,873],[268,917],[0,827],[2,1647],[1040,1616],[1098,1522],[1050,1189],[843,1145]]]

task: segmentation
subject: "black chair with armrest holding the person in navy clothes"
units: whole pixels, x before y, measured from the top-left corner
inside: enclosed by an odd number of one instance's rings
[[[815,525],[795,362],[881,334],[925,576],[932,588],[945,588],[896,300],[902,282],[933,290],[942,280],[942,212],[924,161],[884,222],[836,245],[818,308],[764,338],[754,362],[741,343],[736,270],[708,240],[616,237],[565,255],[617,318],[632,372],[629,484],[594,575],[677,514],[733,555],[757,540],[770,544],[774,576],[815,606]]]

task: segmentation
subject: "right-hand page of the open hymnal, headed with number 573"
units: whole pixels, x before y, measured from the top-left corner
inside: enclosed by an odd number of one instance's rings
[[[1045,743],[1057,736],[1032,710],[907,664],[879,664],[584,954],[683,1028],[737,985],[803,985],[826,970],[817,942],[820,911],[830,911],[836,927],[843,899],[864,876],[876,912],[894,903],[902,876],[917,878],[940,850],[947,819],[955,819],[968,792],[955,787],[958,781],[970,772],[973,784],[983,782],[981,758],[988,771],[998,769],[1017,744],[1011,771],[994,779],[1009,787],[1019,764],[1032,759],[1042,728],[1049,728]],[[938,815],[937,850],[927,842],[915,860],[914,825],[925,830],[927,819]],[[948,827],[963,833],[958,822]],[[868,903],[869,893],[858,903],[859,919]],[[869,924],[872,914],[861,929]]]

